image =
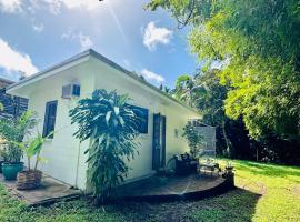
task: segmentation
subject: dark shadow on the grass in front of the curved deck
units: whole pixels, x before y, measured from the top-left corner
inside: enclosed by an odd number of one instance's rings
[[[110,205],[109,211],[117,211],[128,221],[251,221],[260,196],[247,190],[236,189],[200,201],[119,202]]]

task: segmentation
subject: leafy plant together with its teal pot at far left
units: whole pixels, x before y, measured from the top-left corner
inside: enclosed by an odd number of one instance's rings
[[[0,138],[4,141],[4,144],[1,144],[1,155],[4,159],[2,172],[6,180],[16,180],[18,172],[23,170],[23,151],[11,141],[22,142],[24,135],[30,134],[37,125],[34,117],[34,112],[27,111],[19,118],[0,120]]]

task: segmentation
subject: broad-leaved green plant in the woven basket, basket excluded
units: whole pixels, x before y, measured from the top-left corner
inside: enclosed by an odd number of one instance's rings
[[[27,155],[27,161],[28,161],[28,171],[37,171],[38,164],[41,161],[46,161],[43,158],[40,157],[40,152],[42,149],[42,145],[44,141],[50,138],[53,134],[53,132],[49,133],[46,138],[43,138],[39,132],[36,138],[29,139],[29,141],[23,141],[23,142],[17,142],[17,141],[11,141],[12,144],[16,144]],[[34,168],[31,169],[31,159],[36,155],[36,164]]]

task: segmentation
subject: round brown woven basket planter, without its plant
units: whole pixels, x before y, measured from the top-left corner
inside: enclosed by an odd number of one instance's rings
[[[31,190],[41,185],[42,172],[41,171],[21,171],[17,176],[18,190]]]

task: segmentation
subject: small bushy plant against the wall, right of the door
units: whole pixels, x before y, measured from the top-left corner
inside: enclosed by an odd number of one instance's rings
[[[182,137],[184,137],[188,140],[191,157],[194,159],[199,158],[198,154],[201,150],[201,145],[204,142],[203,135],[199,131],[197,131],[190,123],[188,123],[183,128]]]

